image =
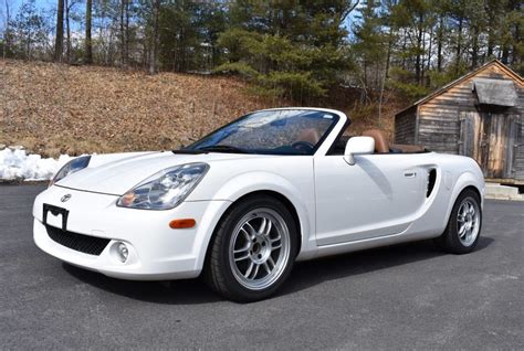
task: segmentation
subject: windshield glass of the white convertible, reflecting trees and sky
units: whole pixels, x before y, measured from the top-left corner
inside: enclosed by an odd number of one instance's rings
[[[319,110],[256,111],[213,131],[185,150],[313,155],[337,120],[337,115]]]

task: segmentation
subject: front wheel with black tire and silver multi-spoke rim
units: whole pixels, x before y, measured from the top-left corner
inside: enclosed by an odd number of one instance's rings
[[[290,275],[297,236],[295,221],[284,204],[268,195],[248,198],[219,223],[205,278],[228,299],[264,299]]]

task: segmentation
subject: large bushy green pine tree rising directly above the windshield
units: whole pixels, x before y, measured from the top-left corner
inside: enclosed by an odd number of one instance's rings
[[[322,96],[348,66],[342,22],[349,6],[322,0],[230,3],[232,28],[219,36],[228,62],[216,71],[242,74],[272,95]]]

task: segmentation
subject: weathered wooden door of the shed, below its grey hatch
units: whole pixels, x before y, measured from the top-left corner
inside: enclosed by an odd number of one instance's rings
[[[461,111],[459,153],[475,159],[485,178],[513,178],[517,127],[515,116]]]

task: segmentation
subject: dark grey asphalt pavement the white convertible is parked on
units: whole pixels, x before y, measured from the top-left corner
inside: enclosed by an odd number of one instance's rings
[[[238,305],[199,280],[136,283],[32,242],[41,185],[0,185],[0,349],[523,349],[524,202],[486,201],[476,252],[431,243],[298,264]]]

